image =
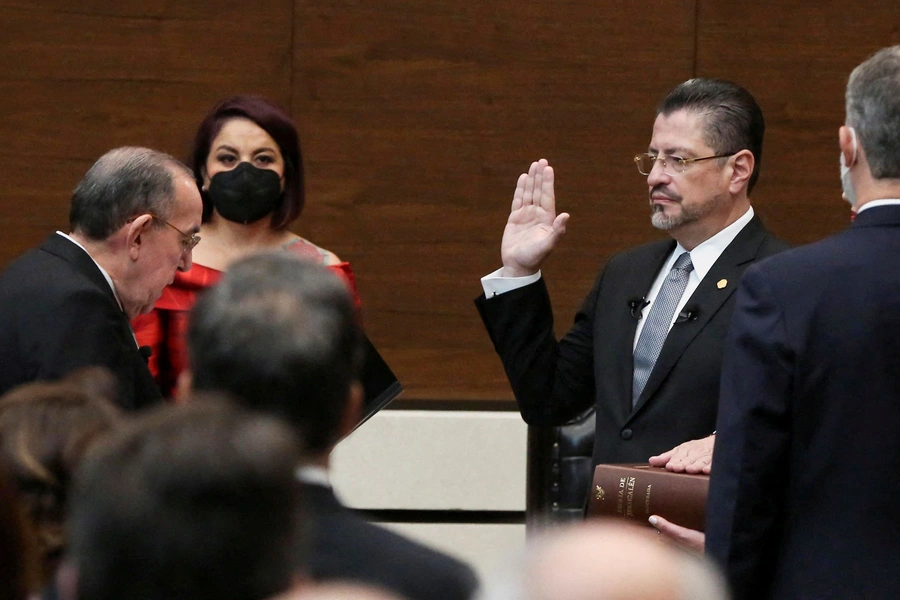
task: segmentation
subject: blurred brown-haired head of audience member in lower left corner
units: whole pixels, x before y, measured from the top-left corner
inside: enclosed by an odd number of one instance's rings
[[[27,383],[0,397],[0,463],[34,531],[43,585],[66,547],[65,506],[75,469],[91,444],[122,423],[108,399],[79,387],[95,376]]]

